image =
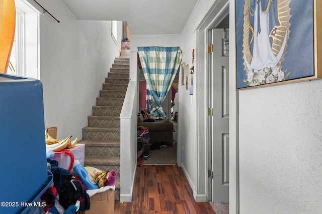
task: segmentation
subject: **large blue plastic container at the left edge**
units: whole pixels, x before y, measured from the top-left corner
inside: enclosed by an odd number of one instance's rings
[[[0,74],[0,213],[26,213],[52,181],[42,83]]]

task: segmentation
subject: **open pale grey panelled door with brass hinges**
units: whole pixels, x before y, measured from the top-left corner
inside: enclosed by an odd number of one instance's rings
[[[210,191],[214,203],[229,203],[229,60],[224,50],[224,29],[212,29],[213,53],[209,57]]]

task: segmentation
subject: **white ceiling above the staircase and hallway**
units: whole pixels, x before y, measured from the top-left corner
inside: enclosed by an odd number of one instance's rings
[[[127,21],[131,35],[180,35],[199,0],[60,0],[77,20]]]

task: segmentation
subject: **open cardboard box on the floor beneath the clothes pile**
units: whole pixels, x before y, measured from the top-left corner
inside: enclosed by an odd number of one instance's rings
[[[113,214],[114,213],[114,190],[110,189],[90,197],[90,210],[85,214]]]

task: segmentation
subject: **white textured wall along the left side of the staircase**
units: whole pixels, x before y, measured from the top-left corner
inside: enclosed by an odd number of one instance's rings
[[[39,9],[31,0],[30,4]],[[82,128],[121,50],[111,38],[110,21],[76,21],[59,1],[38,1],[60,23],[40,15],[40,80],[45,127],[57,126],[57,138],[82,138]]]

